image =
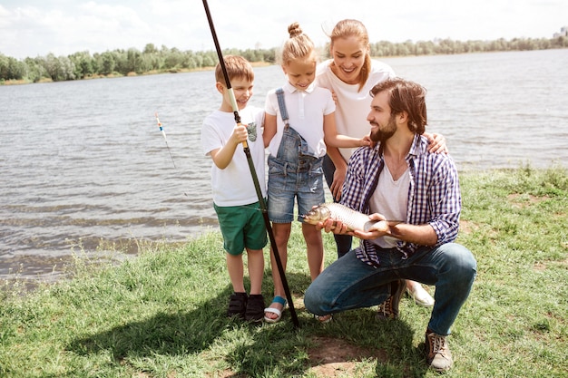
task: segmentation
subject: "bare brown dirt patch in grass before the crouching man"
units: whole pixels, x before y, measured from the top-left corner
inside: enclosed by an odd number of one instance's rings
[[[356,363],[367,359],[387,361],[384,351],[365,349],[333,337],[310,339],[316,346],[308,350],[310,371],[318,377],[335,377],[355,373]]]

